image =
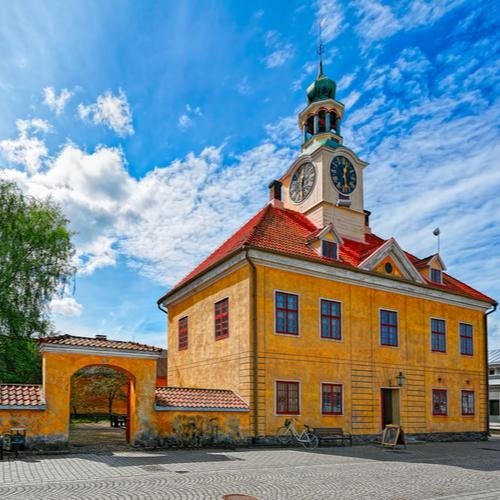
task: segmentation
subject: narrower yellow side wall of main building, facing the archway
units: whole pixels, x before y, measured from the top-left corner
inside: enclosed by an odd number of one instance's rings
[[[215,340],[214,304],[229,299],[229,337]],[[179,319],[187,316],[188,343],[178,349]],[[250,397],[249,270],[224,276],[168,307],[168,384],[231,389]]]

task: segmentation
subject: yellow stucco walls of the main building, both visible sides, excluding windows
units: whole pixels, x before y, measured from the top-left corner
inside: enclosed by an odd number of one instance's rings
[[[246,266],[169,305],[169,380],[175,386],[232,389],[251,404],[253,417],[249,280]],[[285,419],[275,412],[276,380],[300,382],[298,419],[311,426],[375,434],[382,427],[381,389],[393,388],[406,432],[485,430],[482,311],[264,266],[257,266],[257,287],[259,435],[275,434]],[[275,290],[299,295],[298,337],[274,333]],[[215,341],[213,307],[224,297],[230,303],[230,338]],[[342,304],[341,341],[320,338],[320,298]],[[398,347],[380,345],[380,309],[398,312]],[[189,348],[179,351],[177,324],[186,315]],[[431,351],[431,317],[446,320],[444,354]],[[473,356],[459,353],[460,322],[474,326]],[[406,377],[401,388],[399,372]],[[321,414],[322,382],[343,385],[343,415]],[[432,415],[432,389],[439,388],[448,391],[446,417]],[[475,392],[474,416],[461,415],[461,390]]]

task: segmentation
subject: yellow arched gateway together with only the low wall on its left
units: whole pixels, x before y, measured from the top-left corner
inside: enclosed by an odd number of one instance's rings
[[[70,427],[71,377],[89,366],[106,366],[129,379],[127,440],[151,442],[155,432],[155,388],[159,347],[60,335],[39,340],[43,384],[0,386],[0,430],[25,427],[31,444],[66,445]]]

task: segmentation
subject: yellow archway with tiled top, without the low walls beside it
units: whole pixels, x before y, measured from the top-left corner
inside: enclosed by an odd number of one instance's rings
[[[154,399],[156,363],[161,349],[134,342],[62,335],[40,341],[46,422],[52,440],[66,443],[70,425],[71,377],[87,366],[108,366],[126,373],[129,387],[130,443],[147,443],[155,437]],[[55,436],[56,435],[56,436]]]

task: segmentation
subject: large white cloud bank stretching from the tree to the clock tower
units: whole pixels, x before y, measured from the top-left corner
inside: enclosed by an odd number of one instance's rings
[[[120,149],[87,153],[67,144],[43,172],[0,174],[63,207],[76,233],[80,275],[113,266],[122,256],[140,274],[172,285],[265,203],[262,179],[272,179],[291,155],[269,141],[236,158],[208,147],[136,180]]]

